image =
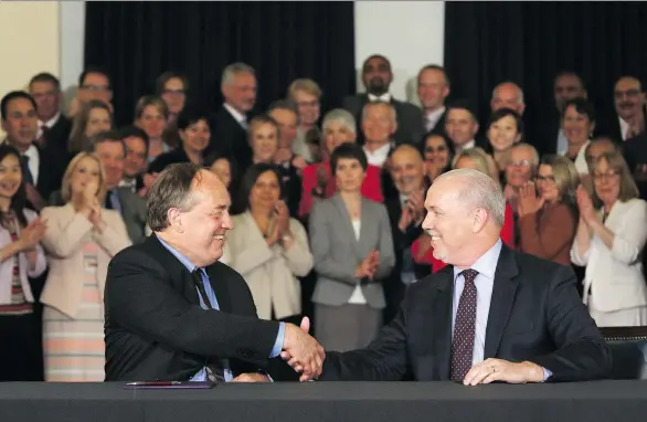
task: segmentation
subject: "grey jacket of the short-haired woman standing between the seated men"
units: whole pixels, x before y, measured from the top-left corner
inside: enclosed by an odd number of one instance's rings
[[[336,193],[330,199],[315,203],[309,228],[310,249],[317,273],[312,302],[328,306],[348,303],[356,286],[360,284],[360,279],[354,276],[358,265],[372,250],[376,250],[380,252],[380,265],[374,281],[361,288],[369,306],[383,308],[386,304],[381,281],[389,277],[395,265],[386,208],[362,198],[358,241],[343,200]]]

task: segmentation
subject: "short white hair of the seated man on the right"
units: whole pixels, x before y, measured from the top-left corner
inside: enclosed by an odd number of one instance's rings
[[[503,226],[506,198],[501,188],[491,177],[474,169],[457,169],[441,175],[434,182],[452,178],[464,182],[457,191],[457,198],[462,203],[470,205],[473,209],[486,210],[499,228]]]

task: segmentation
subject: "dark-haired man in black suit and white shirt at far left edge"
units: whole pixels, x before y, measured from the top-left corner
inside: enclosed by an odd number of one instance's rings
[[[54,144],[36,144],[36,103],[23,91],[13,91],[2,98],[2,129],[6,143],[18,149],[21,156],[22,180],[26,186],[30,208],[40,211],[45,200],[61,188],[67,154]]]

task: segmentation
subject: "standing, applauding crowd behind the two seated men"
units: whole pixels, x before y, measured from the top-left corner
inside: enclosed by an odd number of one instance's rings
[[[369,345],[407,287],[447,265],[423,221],[427,190],[452,169],[477,170],[500,189],[506,245],[573,266],[597,326],[647,324],[646,101],[636,77],[600,87],[614,89],[617,112],[603,118],[583,80],[560,73],[555,110],[532,133],[515,83],[494,88],[479,123],[468,99],[448,101],[442,66],[418,73],[422,108],[395,99],[392,80],[389,60],[372,55],[365,93],[340,108],[322,113],[324,91],[301,78],[254,113],[246,64],[225,67],[216,110],[193,105],[190,82],[167,72],[124,127],[98,67],[82,73],[68,109],[47,73],[7,94],[0,380],[104,380],[108,263],[151,234],[146,198],[180,162],[229,190],[233,228],[220,262],[244,277],[257,316],[298,325],[312,307],[326,349]]]

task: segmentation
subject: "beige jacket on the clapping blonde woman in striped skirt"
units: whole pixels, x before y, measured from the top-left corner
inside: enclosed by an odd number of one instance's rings
[[[83,295],[83,244],[94,241],[99,245],[97,281],[102,300],[110,259],[130,244],[126,225],[117,211],[102,210],[102,217],[107,226],[99,234],[70,203],[41,211],[41,218],[47,222],[42,245],[50,265],[41,302],[71,318],[76,316]]]

